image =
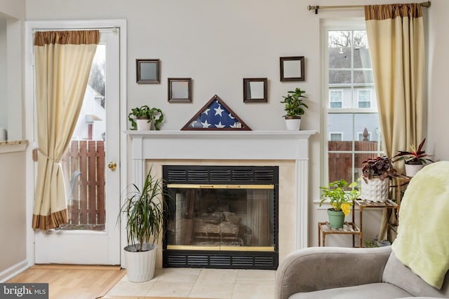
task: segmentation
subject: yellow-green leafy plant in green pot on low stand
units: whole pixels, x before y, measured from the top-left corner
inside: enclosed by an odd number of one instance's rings
[[[329,202],[331,208],[328,209],[329,225],[331,228],[342,228],[344,216],[348,216],[351,205],[360,194],[357,190],[358,183],[348,182],[344,179],[328,183],[328,186],[321,186],[321,202]]]

